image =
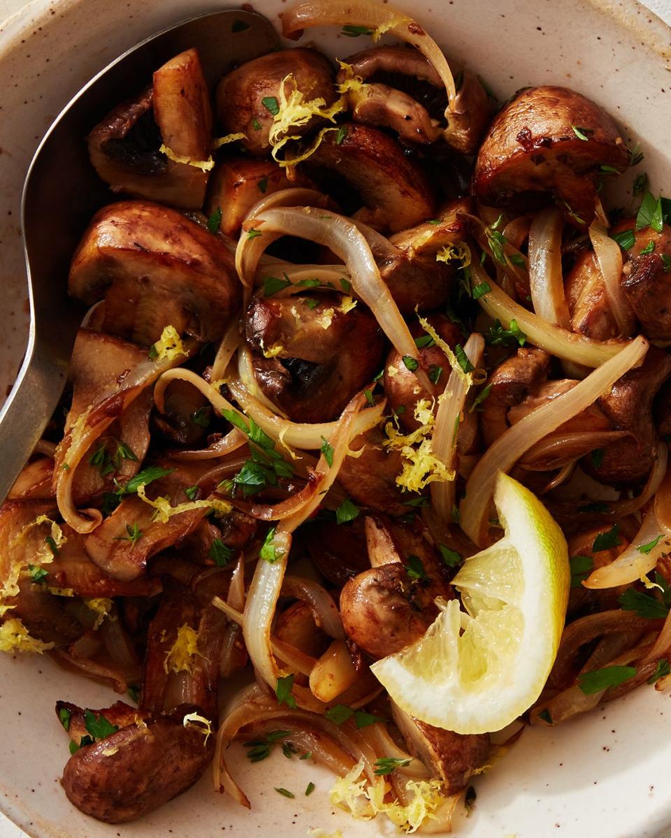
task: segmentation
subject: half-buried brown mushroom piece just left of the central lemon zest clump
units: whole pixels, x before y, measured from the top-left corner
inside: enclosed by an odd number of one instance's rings
[[[358,457],[346,457],[338,471],[338,483],[356,504],[387,515],[407,515],[403,493],[396,478],[403,470],[400,451],[385,447],[385,435],[374,428],[349,443],[349,450],[362,451]]]

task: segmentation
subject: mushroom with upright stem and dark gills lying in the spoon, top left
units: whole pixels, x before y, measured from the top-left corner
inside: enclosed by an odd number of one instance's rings
[[[208,172],[159,151],[165,145],[180,158],[209,159],[212,109],[196,50],[159,68],[152,87],[107,114],[88,143],[91,163],[113,192],[199,209]]]

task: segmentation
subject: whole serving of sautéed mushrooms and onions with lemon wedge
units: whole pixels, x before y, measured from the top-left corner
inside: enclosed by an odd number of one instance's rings
[[[213,97],[194,47],[87,138],[118,195],[0,510],[0,640],[136,696],[56,706],[100,820],[210,763],[249,806],[241,738],[447,830],[516,720],[668,681],[668,202],[604,209],[640,154],[596,103],[498,108],[404,13],[343,8],[283,16],[372,36],[338,68],[285,49]]]

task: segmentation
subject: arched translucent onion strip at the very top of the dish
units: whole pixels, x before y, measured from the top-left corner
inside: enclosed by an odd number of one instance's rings
[[[285,38],[300,38],[303,29],[312,26],[354,25],[374,28],[376,33],[390,32],[396,38],[420,50],[440,75],[445,85],[449,106],[448,119],[455,105],[457,88],[445,55],[423,28],[404,12],[374,0],[307,0],[281,14],[282,34]],[[375,33],[374,33],[375,37]]]

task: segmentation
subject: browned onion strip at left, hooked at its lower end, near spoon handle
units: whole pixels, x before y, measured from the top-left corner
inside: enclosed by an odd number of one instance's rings
[[[106,428],[119,418],[121,411],[126,410],[126,407],[166,370],[182,364],[193,354],[197,342],[194,339],[188,339],[182,343],[184,354],[178,354],[172,359],[149,360],[147,358],[126,375],[121,385],[103,391],[85,413],[73,423],[59,443],[57,467],[54,469],[56,500],[63,520],[76,532],[92,532],[102,520],[100,510],[84,510],[86,515],[82,515],[75,507],[72,487],[77,466],[95,440],[101,437]]]

